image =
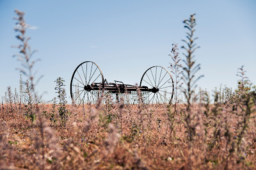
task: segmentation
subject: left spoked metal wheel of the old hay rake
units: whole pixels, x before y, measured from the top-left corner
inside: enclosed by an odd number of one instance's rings
[[[97,104],[104,93],[104,77],[99,66],[85,61],[77,66],[70,82],[70,95],[75,105]]]

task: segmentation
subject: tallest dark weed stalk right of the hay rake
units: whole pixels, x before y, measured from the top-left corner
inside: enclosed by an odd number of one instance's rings
[[[182,40],[186,45],[182,46],[181,48],[185,50],[183,53],[185,59],[184,66],[183,66],[183,81],[184,81],[184,88],[183,93],[186,97],[186,118],[184,120],[185,127],[188,131],[188,141],[189,141],[189,164],[191,163],[191,149],[193,148],[193,139],[196,134],[196,127],[199,125],[198,122],[193,121],[197,116],[195,112],[191,111],[191,100],[193,100],[192,95],[195,93],[196,82],[198,79],[203,77],[200,75],[196,77],[196,73],[200,70],[200,65],[196,64],[194,54],[195,50],[199,47],[196,45],[195,40],[198,39],[195,37],[195,26],[196,26],[196,19],[195,14],[191,15],[189,19],[184,20],[184,27],[188,30],[186,32],[186,39]],[[194,95],[195,96],[195,95]]]

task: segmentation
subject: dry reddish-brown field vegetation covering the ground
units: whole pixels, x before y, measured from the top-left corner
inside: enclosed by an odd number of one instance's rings
[[[26,105],[1,105],[0,168],[255,169],[255,112],[241,135],[228,104],[192,105],[191,128],[184,105],[174,117],[166,105],[66,107],[63,125],[54,105],[40,104],[33,122]]]

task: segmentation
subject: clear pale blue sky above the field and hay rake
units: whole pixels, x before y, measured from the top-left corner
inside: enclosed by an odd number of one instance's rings
[[[256,1],[4,1],[0,0],[0,96],[7,86],[19,88],[20,66],[12,58],[14,10],[26,13],[30,45],[41,61],[35,68],[43,79],[36,87],[44,100],[56,97],[57,77],[66,81],[83,61],[100,66],[108,82],[140,83],[150,66],[168,68],[172,43],[183,45],[182,21],[196,13],[195,53],[204,78],[198,86],[236,88],[237,68],[244,65],[256,84]],[[180,56],[182,50],[180,50]]]

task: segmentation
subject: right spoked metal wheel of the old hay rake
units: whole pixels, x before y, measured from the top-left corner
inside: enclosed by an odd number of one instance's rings
[[[150,91],[141,91],[145,104],[171,104],[174,84],[172,75],[162,66],[152,66],[143,74],[140,86],[147,86]]]

